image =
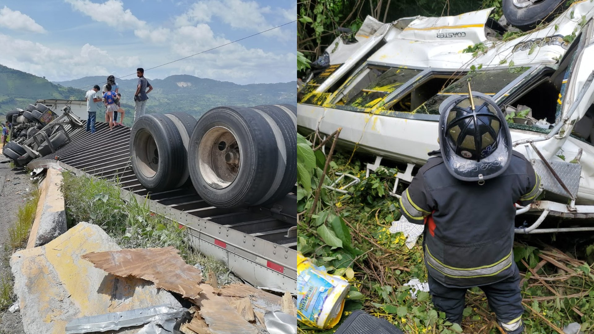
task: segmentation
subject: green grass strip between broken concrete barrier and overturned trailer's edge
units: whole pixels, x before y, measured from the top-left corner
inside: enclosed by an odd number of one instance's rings
[[[212,271],[221,284],[239,282],[225,264],[192,250],[183,240],[185,229],[151,212],[148,203],[122,200],[115,182],[77,177],[70,172],[62,176],[69,228],[78,222],[94,223],[122,248],[173,246],[188,264],[200,264],[204,279]]]

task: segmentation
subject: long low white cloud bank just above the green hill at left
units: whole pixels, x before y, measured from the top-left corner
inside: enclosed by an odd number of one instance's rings
[[[109,75],[113,74],[113,64],[132,68],[140,62],[138,56],[113,56],[89,43],[78,50],[52,49],[40,43],[0,34],[0,45],[11,46],[0,53],[0,64],[53,81],[87,75]]]

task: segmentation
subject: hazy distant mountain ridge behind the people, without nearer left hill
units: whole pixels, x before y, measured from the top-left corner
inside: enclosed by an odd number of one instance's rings
[[[85,87],[94,84],[103,87],[106,77],[84,77],[71,81],[58,81],[55,84],[67,87]],[[134,105],[134,93],[138,78],[116,80],[122,103]],[[297,100],[296,81],[274,84],[239,85],[228,81],[198,78],[192,75],[171,75],[165,79],[149,79],[153,86],[147,101],[147,112],[181,111],[200,117],[216,106],[257,106],[275,103],[295,104]],[[133,112],[133,111],[131,111]]]

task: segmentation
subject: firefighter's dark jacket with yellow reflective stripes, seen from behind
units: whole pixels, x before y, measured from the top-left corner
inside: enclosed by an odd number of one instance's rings
[[[499,177],[460,181],[447,171],[439,151],[429,155],[402,193],[400,210],[425,224],[425,266],[445,286],[466,288],[513,275],[514,203],[529,204],[541,179],[530,162],[513,152]]]

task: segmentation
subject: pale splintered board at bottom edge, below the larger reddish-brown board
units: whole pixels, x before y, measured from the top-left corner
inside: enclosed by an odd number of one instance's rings
[[[203,292],[194,298],[194,303],[200,307],[197,314],[204,318],[213,334],[258,334],[256,327],[245,321],[226,298],[215,294],[212,286],[200,284],[200,288]]]

